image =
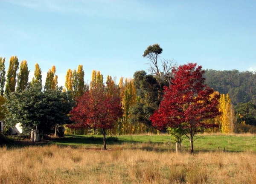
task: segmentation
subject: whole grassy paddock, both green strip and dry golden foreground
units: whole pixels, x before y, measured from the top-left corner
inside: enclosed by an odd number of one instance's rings
[[[256,136],[203,134],[175,153],[169,135],[68,135],[49,144],[0,147],[0,184],[256,184]],[[171,140],[171,139],[170,139]],[[220,150],[218,150],[220,147]],[[225,147],[225,152],[223,151]]]

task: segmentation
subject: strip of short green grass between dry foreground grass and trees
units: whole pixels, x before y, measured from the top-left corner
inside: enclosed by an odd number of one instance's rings
[[[197,135],[194,142],[195,152],[218,151],[225,150],[227,152],[243,152],[256,151],[256,135],[244,134],[203,134]],[[129,145],[129,148],[137,147],[139,144],[147,144],[148,150],[168,150],[168,138],[170,138],[170,151],[175,150],[175,142],[172,141],[172,136],[169,135],[125,135],[125,136],[107,136],[107,148],[115,149],[116,147],[124,147]],[[83,146],[88,148],[102,148],[102,136],[90,135],[65,135],[64,139],[56,139],[50,144],[57,145],[72,145]],[[146,148],[145,148],[146,149]],[[183,151],[189,151],[190,142],[186,137],[182,142]]]

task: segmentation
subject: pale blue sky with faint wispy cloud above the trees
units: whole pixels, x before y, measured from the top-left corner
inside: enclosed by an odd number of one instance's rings
[[[45,81],[56,66],[132,77],[148,71],[143,52],[158,43],[161,58],[203,69],[256,71],[256,0],[0,0],[0,57],[38,63]]]

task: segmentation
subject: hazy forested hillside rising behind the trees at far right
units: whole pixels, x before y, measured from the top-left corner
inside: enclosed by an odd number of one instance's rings
[[[205,70],[205,82],[221,94],[229,94],[233,105],[253,102],[256,104],[256,71]]]

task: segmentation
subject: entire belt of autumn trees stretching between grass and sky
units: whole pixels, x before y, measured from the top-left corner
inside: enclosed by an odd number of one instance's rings
[[[143,54],[148,58],[150,74],[137,71],[134,79],[124,81],[121,78],[118,85],[111,76],[107,76],[104,84],[100,71],[93,71],[90,86],[84,84],[84,71],[79,65],[77,71],[68,69],[66,89],[58,88],[58,76],[53,66],[47,73],[44,90],[39,65],[35,66],[32,82],[28,82],[26,61],[20,63],[17,73],[17,57],[11,57],[6,90],[3,91],[7,98],[4,106],[6,122],[10,126],[21,122],[26,127],[37,126],[45,131],[56,124],[73,123],[67,125],[71,130],[86,129],[93,133],[97,130],[104,135],[104,141],[106,134],[155,133],[157,130],[171,130],[177,134],[176,130],[179,130],[179,135],[190,140],[192,152],[197,132],[231,133],[237,130],[238,118],[240,124],[250,120],[253,125],[254,111],[250,110],[255,108],[253,104],[238,106],[241,113],[235,115],[236,108],[233,108],[229,95],[220,95],[205,85],[201,66],[189,63],[177,67],[173,59],[160,59],[162,51],[160,45],[150,45]],[[0,68],[4,68],[4,61],[5,58],[1,58]],[[11,65],[11,61],[14,64]],[[4,77],[0,83],[5,80],[4,72],[1,70],[0,76]],[[13,88],[16,75],[12,73],[17,73],[16,92]],[[1,85],[1,92],[2,89]],[[4,103],[5,99],[0,101]],[[49,109],[45,110],[46,107]],[[248,111],[250,116],[247,116]]]

